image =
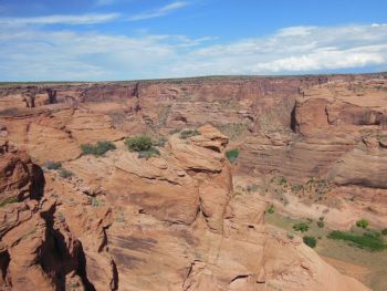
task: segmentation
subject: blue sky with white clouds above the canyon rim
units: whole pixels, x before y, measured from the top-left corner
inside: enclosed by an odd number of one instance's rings
[[[0,81],[387,71],[385,0],[0,0]]]

